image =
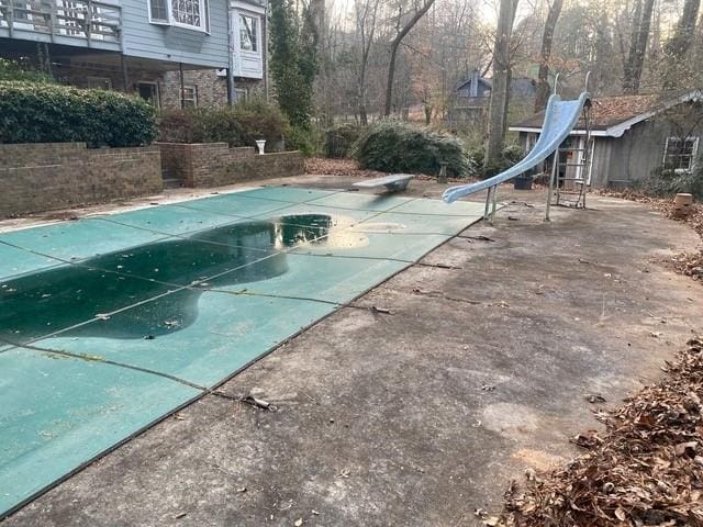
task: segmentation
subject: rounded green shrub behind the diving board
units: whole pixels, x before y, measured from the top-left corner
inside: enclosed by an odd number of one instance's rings
[[[397,121],[382,121],[366,128],[354,145],[361,168],[384,172],[470,176],[473,166],[456,137],[417,128]]]

